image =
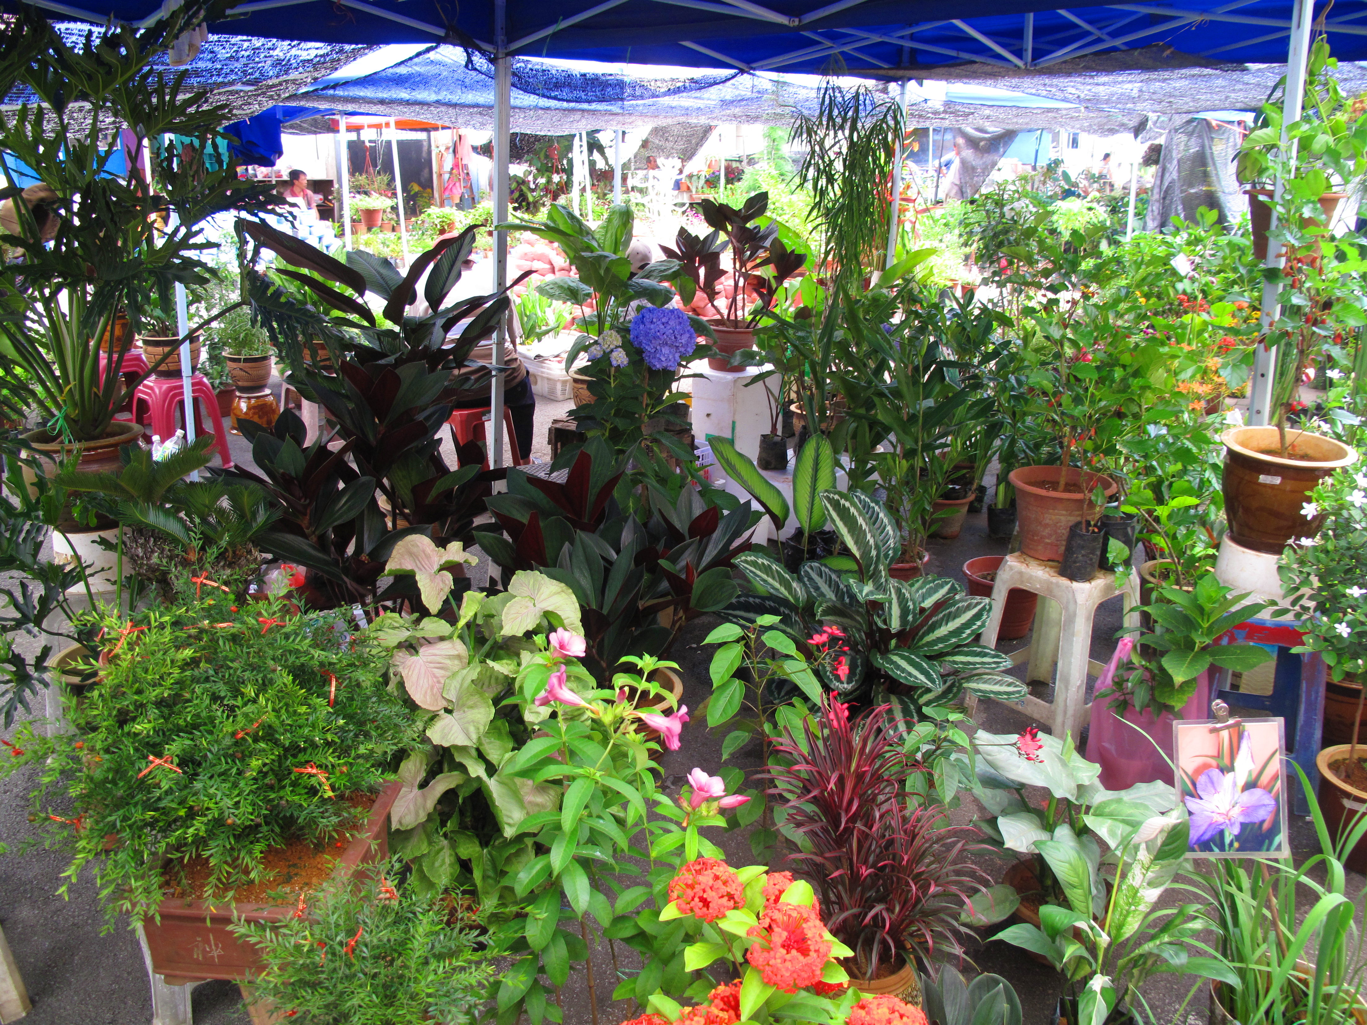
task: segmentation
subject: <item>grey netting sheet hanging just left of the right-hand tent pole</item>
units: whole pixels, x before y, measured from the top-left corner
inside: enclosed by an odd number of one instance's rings
[[[1148,193],[1147,231],[1166,228],[1172,217],[1196,220],[1206,206],[1219,212],[1221,223],[1248,209],[1234,178],[1239,137],[1232,127],[1195,118],[1167,131],[1163,152]]]

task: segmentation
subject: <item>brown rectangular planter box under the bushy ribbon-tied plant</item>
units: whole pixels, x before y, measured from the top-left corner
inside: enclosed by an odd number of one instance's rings
[[[399,797],[394,780],[376,795],[370,817],[360,835],[347,845],[332,869],[332,879],[350,876],[360,865],[390,856],[390,809]],[[228,925],[234,914],[246,921],[280,921],[294,914],[294,906],[269,903],[227,903],[167,898],[157,907],[161,921],[146,918],[142,928],[152,954],[152,970],[171,985],[205,979],[245,981],[260,969],[257,948],[239,940]]]

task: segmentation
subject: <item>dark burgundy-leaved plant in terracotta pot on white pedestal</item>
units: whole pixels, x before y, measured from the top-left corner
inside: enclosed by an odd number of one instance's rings
[[[679,228],[675,249],[662,249],[679,261],[697,290],[720,313],[709,324],[725,358],[708,357],[708,366],[740,372],[742,368],[734,365],[735,354],[755,347],[755,327],[772,306],[778,287],[807,261],[807,253],[789,251],[772,220],[766,227],[757,224],[768,210],[768,193],[756,193],[740,209],[714,200],[699,201],[699,209],[712,231],[700,239]],[[730,266],[723,268],[722,254],[727,250]],[[725,299],[722,305],[718,305],[719,291]]]

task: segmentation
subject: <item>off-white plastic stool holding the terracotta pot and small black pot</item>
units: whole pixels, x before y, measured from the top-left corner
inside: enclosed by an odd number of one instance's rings
[[[1002,610],[1012,588],[1053,599],[1039,603],[1031,644],[1016,652],[1012,663],[1020,666],[1029,659],[1025,676],[1029,683],[1053,683],[1057,666],[1054,700],[1042,701],[1027,694],[1024,700],[1009,704],[1024,709],[1033,719],[1050,723],[1050,733],[1055,737],[1070,734],[1076,743],[1092,711],[1087,704],[1087,676],[1100,675],[1105,670],[1100,663],[1089,657],[1096,607],[1120,594],[1125,601],[1125,626],[1139,626],[1137,614],[1131,611],[1139,604],[1139,575],[1132,573],[1124,588],[1118,588],[1115,574],[1110,571],[1098,573],[1089,581],[1077,584],[1059,577],[1057,570],[1057,563],[1032,559],[1024,552],[1007,555],[992,582],[992,616],[987,620],[980,640],[988,648],[997,646]],[[976,707],[977,700],[969,694],[968,713],[972,715]]]

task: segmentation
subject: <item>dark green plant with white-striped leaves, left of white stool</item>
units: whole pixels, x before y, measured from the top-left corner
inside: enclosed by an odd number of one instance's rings
[[[901,543],[887,510],[860,492],[824,491],[820,502],[845,549],[838,567],[805,562],[793,574],[764,555],[742,555],[737,569],[757,593],[740,596],[723,618],[745,625],[779,616],[774,629],[805,646],[828,689],[849,700],[891,700],[917,719],[965,690],[1024,696],[1024,685],[1002,672],[1010,660],[973,641],[991,615],[988,599],[966,597],[943,577],[891,578]],[[834,641],[833,626],[841,631]],[[838,656],[817,659],[830,644]]]

